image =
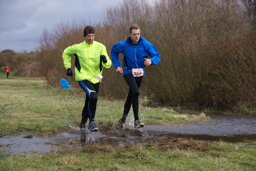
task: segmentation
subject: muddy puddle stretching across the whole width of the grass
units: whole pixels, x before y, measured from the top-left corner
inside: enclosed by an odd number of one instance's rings
[[[151,142],[161,142],[166,137],[192,138],[203,141],[255,141],[256,117],[232,116],[222,114],[206,114],[212,119],[202,122],[182,123],[171,126],[146,125],[134,129],[131,123],[126,129],[115,127],[99,128],[98,132],[88,130],[81,132],[71,127],[70,131],[58,135],[36,136],[30,134],[10,135],[0,138],[0,153],[26,154],[62,150],[79,150],[86,145],[96,143],[100,145],[118,146],[120,144],[138,145]]]

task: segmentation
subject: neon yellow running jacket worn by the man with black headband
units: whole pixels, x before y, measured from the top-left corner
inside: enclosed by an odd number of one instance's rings
[[[89,80],[91,83],[96,84],[101,80],[102,66],[104,68],[110,68],[112,65],[106,47],[96,41],[93,41],[92,44],[88,44],[84,41],[66,48],[62,54],[66,69],[71,67],[72,55],[75,56],[76,81]],[[108,62],[104,64],[100,60],[101,55],[105,55]]]

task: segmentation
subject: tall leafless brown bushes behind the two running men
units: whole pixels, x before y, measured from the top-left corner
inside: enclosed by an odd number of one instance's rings
[[[244,9],[239,0],[159,0],[153,6],[124,0],[94,25],[95,40],[110,56],[111,47],[138,24],[141,36],[161,54],[158,65],[145,67],[148,95],[173,106],[232,108],[241,102],[255,107],[255,27],[248,22],[254,18]],[[44,31],[39,56],[48,85],[59,85],[61,78],[74,82],[65,75],[61,56],[66,47],[84,41],[86,25],[74,20],[57,24],[52,33]],[[125,98],[128,87],[114,67],[104,69],[103,77],[100,95]]]

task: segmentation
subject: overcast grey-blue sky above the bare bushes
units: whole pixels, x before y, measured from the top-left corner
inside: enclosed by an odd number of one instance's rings
[[[148,0],[154,2],[155,0]],[[74,18],[97,22],[123,0],[0,0],[0,52],[35,50],[43,29]]]

